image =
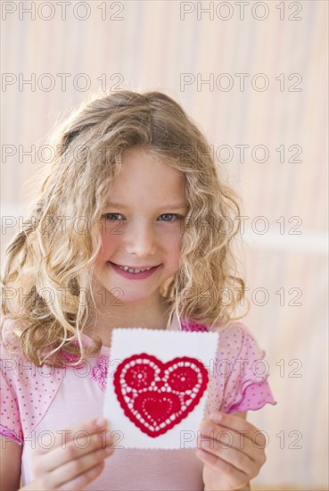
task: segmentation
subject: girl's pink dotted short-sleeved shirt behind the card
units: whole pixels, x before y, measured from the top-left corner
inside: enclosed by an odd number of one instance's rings
[[[184,330],[207,330],[182,322]],[[175,323],[172,329],[177,329]],[[90,338],[83,335],[84,342]],[[23,486],[34,480],[30,452],[36,445],[51,448],[56,432],[79,421],[101,416],[110,348],[80,368],[36,367],[22,355],[9,354],[1,345],[0,434],[22,445]],[[267,383],[265,352],[251,332],[234,322],[219,333],[218,354],[210,366],[206,414],[258,410],[276,404]],[[110,364],[110,365],[109,365]],[[202,462],[195,449],[119,449],[106,461],[90,490],[203,490]]]

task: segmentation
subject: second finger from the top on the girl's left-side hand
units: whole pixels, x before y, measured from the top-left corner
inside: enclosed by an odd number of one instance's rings
[[[93,454],[100,449],[105,449],[106,446],[109,448],[109,445],[113,443],[110,432],[105,430],[91,435],[85,430],[80,430],[76,435],[78,437],[74,437],[69,443],[57,445],[52,450],[48,449],[47,454],[38,455],[33,465],[36,477],[61,468],[68,462],[76,462],[74,465],[77,465],[77,459],[87,454]]]

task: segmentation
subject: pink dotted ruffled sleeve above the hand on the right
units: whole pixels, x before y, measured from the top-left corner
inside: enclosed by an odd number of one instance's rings
[[[245,412],[277,404],[267,378],[265,351],[242,323],[219,332],[214,378],[210,384],[209,411]]]

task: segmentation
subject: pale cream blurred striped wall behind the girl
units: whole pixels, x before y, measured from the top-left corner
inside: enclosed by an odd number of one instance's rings
[[[243,197],[251,312],[278,404],[254,487],[327,479],[328,3],[2,2],[2,249],[59,112],[96,90],[160,89]],[[244,151],[244,153],[243,153]]]

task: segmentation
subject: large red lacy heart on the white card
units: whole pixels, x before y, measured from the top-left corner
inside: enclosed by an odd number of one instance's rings
[[[209,381],[196,358],[163,363],[152,354],[134,354],[119,363],[113,383],[127,418],[149,437],[158,437],[184,420],[199,404]]]

